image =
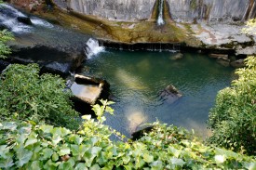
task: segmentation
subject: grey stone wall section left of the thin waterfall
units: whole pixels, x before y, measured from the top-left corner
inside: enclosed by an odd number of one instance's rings
[[[54,0],[63,5],[63,1]],[[155,0],[70,0],[67,6],[76,12],[108,20],[147,20]]]

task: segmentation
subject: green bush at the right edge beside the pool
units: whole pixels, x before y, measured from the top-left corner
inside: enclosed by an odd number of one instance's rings
[[[246,59],[247,68],[236,70],[239,78],[221,90],[209,114],[211,143],[236,151],[256,152],[256,59]]]

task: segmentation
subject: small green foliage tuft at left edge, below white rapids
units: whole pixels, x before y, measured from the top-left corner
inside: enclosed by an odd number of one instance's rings
[[[13,40],[12,33],[7,30],[0,31],[0,59],[5,59],[11,53],[10,48],[6,45],[9,40]]]

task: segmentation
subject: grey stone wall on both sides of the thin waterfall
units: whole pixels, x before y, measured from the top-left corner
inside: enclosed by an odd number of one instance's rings
[[[60,7],[108,20],[147,20],[157,0],[53,0]],[[240,21],[256,16],[254,0],[166,0],[177,22]]]

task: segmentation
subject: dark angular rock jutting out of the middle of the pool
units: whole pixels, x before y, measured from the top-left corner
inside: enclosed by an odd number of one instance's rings
[[[173,103],[177,99],[182,98],[182,94],[179,92],[179,90],[173,86],[168,85],[161,93],[160,93],[160,99],[163,101],[166,101],[168,103]]]

